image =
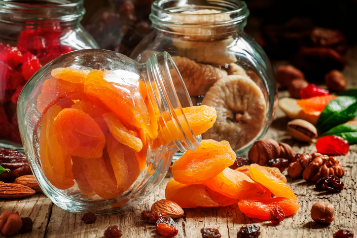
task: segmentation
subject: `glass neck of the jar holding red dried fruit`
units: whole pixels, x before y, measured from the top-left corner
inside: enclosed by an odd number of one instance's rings
[[[18,25],[74,25],[85,13],[83,0],[0,0],[0,22]]]

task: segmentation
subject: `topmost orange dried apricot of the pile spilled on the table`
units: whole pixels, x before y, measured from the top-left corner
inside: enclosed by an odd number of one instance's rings
[[[195,151],[186,151],[172,165],[172,175],[184,184],[201,184],[216,176],[236,160],[228,141],[205,139]]]

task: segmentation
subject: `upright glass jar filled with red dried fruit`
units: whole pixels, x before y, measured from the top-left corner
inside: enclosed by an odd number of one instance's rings
[[[42,66],[77,49],[98,48],[79,24],[83,0],[0,0],[0,146],[22,148],[19,94]]]

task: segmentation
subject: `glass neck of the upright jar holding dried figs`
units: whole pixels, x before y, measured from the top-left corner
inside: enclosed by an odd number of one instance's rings
[[[190,13],[197,10],[210,11]],[[150,20],[159,32],[217,38],[243,31],[248,15],[247,4],[240,0],[155,0]]]

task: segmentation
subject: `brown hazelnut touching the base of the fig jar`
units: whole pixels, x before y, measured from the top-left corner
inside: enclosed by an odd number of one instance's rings
[[[280,155],[280,145],[274,139],[257,140],[248,152],[251,163],[267,166],[270,159]]]

